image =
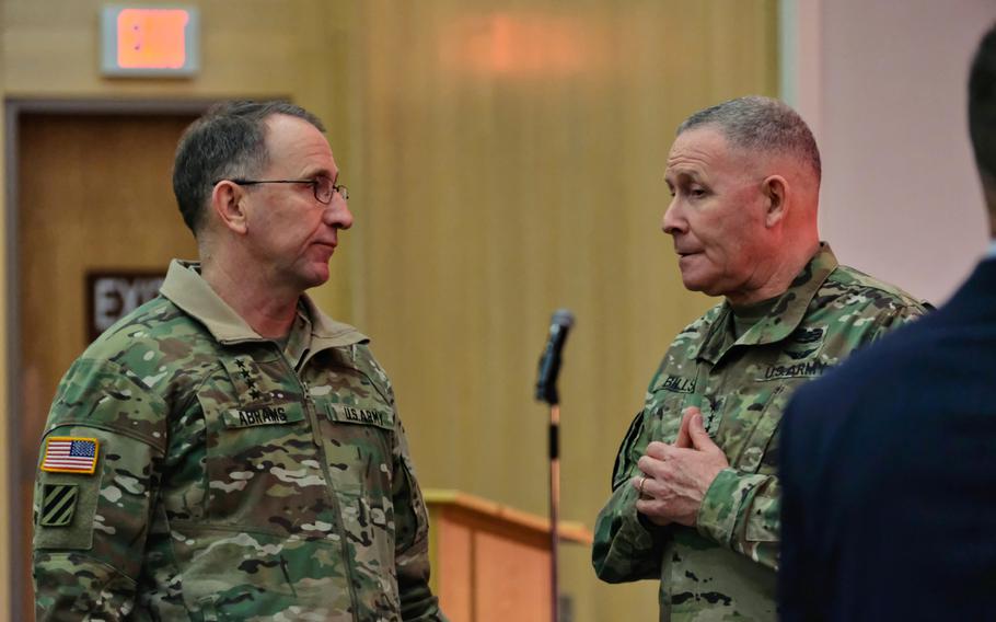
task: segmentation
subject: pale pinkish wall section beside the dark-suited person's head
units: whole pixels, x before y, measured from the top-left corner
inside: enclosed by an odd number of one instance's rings
[[[786,95],[823,156],[821,233],[843,263],[943,302],[988,240],[966,93],[996,3],[783,4],[798,33]]]

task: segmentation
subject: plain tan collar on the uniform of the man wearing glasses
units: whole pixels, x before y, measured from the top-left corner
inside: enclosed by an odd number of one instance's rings
[[[198,262],[173,260],[160,293],[183,309],[221,344],[268,341],[245,323],[241,315],[219,297],[200,276]],[[322,313],[314,301],[301,295],[301,306],[311,323],[312,353],[327,347],[349,346],[370,339],[348,324],[336,322]]]

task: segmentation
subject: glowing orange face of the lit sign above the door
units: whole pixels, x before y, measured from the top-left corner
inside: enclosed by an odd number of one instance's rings
[[[117,65],[128,69],[178,69],[187,59],[183,9],[125,9],[117,15]]]

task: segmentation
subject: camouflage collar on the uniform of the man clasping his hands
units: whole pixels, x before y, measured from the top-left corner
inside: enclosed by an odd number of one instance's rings
[[[830,244],[820,243],[820,250],[806,264],[788,289],[778,297],[772,312],[757,321],[749,331],[737,338],[733,332],[733,310],[728,301],[720,306],[716,321],[702,341],[696,358],[716,365],[730,348],[738,345],[763,345],[780,342],[802,323],[810,302],[817,291],[837,267]]]

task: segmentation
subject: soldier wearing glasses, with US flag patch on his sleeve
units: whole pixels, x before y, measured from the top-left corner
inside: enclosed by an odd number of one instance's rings
[[[324,283],[346,189],[310,113],[235,102],[181,140],[201,264],[69,369],[35,488],[39,620],[443,620],[394,394]]]

